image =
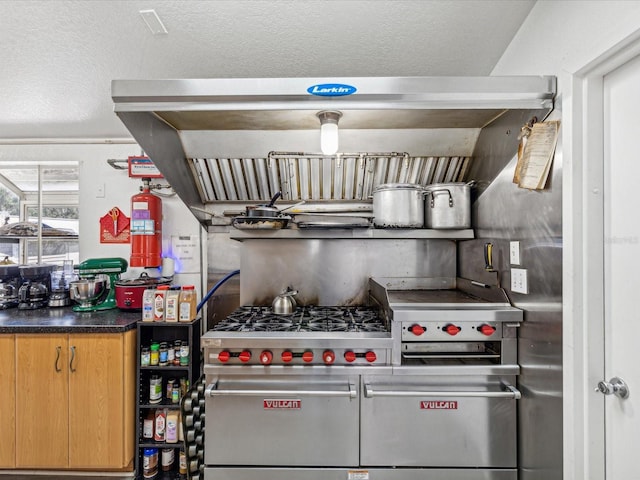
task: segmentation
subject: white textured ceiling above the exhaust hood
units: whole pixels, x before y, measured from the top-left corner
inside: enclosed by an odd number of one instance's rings
[[[534,4],[0,1],[0,140],[130,137],[112,79],[488,75]]]

